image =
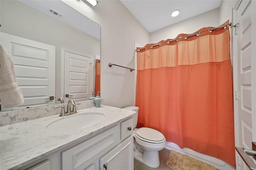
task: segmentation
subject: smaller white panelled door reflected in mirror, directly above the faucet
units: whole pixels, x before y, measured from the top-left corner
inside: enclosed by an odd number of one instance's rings
[[[93,83],[93,57],[74,51],[64,51],[64,102],[88,100]]]

